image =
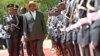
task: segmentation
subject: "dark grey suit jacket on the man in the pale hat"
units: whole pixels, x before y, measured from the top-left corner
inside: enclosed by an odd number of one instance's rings
[[[36,19],[33,20],[30,12],[25,14],[26,23],[24,32],[30,40],[44,39],[46,34],[46,24],[42,13],[36,11]]]

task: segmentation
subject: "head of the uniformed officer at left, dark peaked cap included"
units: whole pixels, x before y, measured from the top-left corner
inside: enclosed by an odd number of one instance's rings
[[[14,15],[17,13],[18,5],[15,4],[8,4],[7,5],[7,11],[8,14]]]

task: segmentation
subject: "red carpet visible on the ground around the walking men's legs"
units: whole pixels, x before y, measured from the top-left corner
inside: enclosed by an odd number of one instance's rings
[[[49,48],[44,49],[45,56],[53,56]],[[25,56],[27,56],[26,51],[24,52]],[[0,50],[0,56],[8,56],[7,50]]]

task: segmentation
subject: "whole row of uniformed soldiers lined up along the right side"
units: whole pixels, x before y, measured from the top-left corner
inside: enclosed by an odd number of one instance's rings
[[[100,0],[61,0],[48,11],[57,56],[100,55]]]

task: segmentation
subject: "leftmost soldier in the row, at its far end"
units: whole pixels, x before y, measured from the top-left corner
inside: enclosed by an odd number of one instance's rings
[[[51,38],[52,41],[52,47],[51,47],[51,51],[55,51],[55,44],[54,44],[54,38],[52,36],[53,33],[53,27],[52,27],[52,19],[53,19],[53,11],[52,9],[50,9],[48,11],[48,21],[47,21],[47,26],[48,26],[48,37]]]

